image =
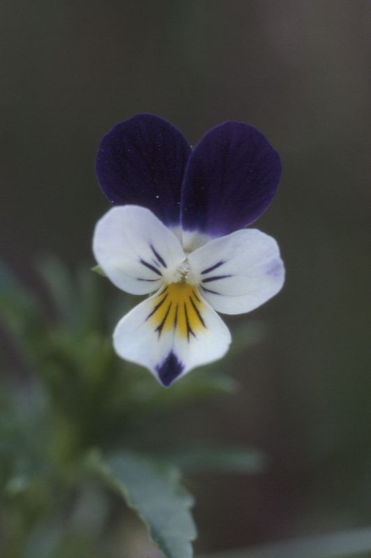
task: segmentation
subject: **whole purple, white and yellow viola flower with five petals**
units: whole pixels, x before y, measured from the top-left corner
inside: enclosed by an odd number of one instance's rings
[[[117,324],[119,356],[169,386],[227,352],[231,335],[216,312],[250,312],[284,282],[275,240],[245,229],[280,173],[278,153],[241,122],[216,126],[194,149],[151,114],[103,137],[96,174],[115,207],[96,225],[93,252],[116,287],[154,293]]]

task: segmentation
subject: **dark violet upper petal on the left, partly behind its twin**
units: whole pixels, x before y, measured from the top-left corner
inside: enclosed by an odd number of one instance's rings
[[[112,204],[140,205],[165,225],[177,225],[189,154],[190,145],[175,126],[153,114],[137,114],[103,136],[96,175]]]

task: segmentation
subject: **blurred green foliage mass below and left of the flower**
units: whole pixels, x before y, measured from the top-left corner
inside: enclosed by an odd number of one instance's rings
[[[105,279],[73,276],[53,257],[37,268],[39,295],[0,269],[11,347],[0,385],[1,557],[130,557],[141,531],[129,508],[166,557],[191,557],[192,497],[177,467],[255,473],[263,460],[217,440],[179,445],[174,418],[234,393],[222,370],[261,331],[241,322],[229,359],[164,389],[112,350],[109,332],[137,299],[108,303]]]

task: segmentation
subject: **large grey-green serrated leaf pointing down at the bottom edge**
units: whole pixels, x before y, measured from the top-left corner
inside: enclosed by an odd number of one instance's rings
[[[129,451],[106,462],[91,455],[91,465],[139,515],[166,558],[192,558],[190,541],[197,534],[190,513],[193,498],[181,485],[178,469]]]

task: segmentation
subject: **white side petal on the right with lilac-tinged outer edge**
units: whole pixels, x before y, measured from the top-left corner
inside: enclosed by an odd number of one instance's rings
[[[225,314],[254,310],[285,280],[278,244],[256,229],[221,236],[192,252],[188,261],[204,299]]]

